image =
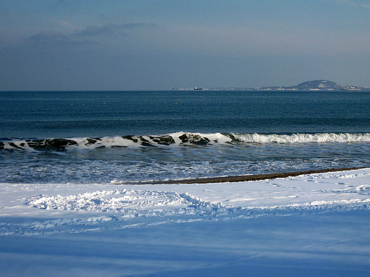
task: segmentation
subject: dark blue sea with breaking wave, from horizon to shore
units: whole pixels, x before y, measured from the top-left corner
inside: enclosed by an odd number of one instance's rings
[[[110,183],[370,167],[370,93],[0,92],[0,182]]]

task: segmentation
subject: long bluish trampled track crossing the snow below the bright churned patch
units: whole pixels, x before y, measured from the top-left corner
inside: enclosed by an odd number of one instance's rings
[[[185,196],[185,195],[184,195]],[[191,197],[191,196],[190,196]],[[192,198],[193,199],[193,198]],[[55,220],[30,221],[23,223],[0,223],[0,236],[51,235],[55,233],[81,233],[99,230],[145,228],[168,223],[187,223],[196,221],[219,221],[258,218],[261,216],[289,216],[299,214],[328,213],[370,209],[370,199],[350,199],[350,201],[313,201],[302,205],[282,205],[268,207],[226,206],[201,201],[199,206],[189,203],[185,209],[172,209],[163,214],[136,213],[134,218],[125,214],[92,216],[88,218],[62,218]],[[195,200],[196,202],[197,200]],[[139,219],[144,221],[138,221]],[[136,219],[136,220],[135,220]],[[134,220],[134,221],[132,221]],[[124,224],[124,222],[127,222]],[[96,227],[94,227],[96,225]]]

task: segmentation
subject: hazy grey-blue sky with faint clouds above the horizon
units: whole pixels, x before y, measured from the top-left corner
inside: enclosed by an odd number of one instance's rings
[[[370,86],[369,0],[0,0],[0,90]]]

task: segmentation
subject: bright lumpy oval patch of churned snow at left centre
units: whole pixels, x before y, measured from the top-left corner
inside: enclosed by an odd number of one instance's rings
[[[27,205],[48,210],[121,212],[125,217],[151,217],[168,214],[219,215],[222,203],[213,204],[185,193],[122,189],[85,192],[77,195],[40,195]],[[232,206],[229,206],[232,207]]]

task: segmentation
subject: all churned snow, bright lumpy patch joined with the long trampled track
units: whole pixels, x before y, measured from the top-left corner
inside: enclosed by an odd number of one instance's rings
[[[233,220],[370,209],[370,198],[234,207],[221,202],[205,201],[188,192],[116,189],[65,196],[38,195],[29,199],[26,204],[39,209],[86,212],[87,216],[81,214],[79,218],[0,223],[1,236],[90,232],[201,220]],[[98,216],[91,216],[91,212]]]

